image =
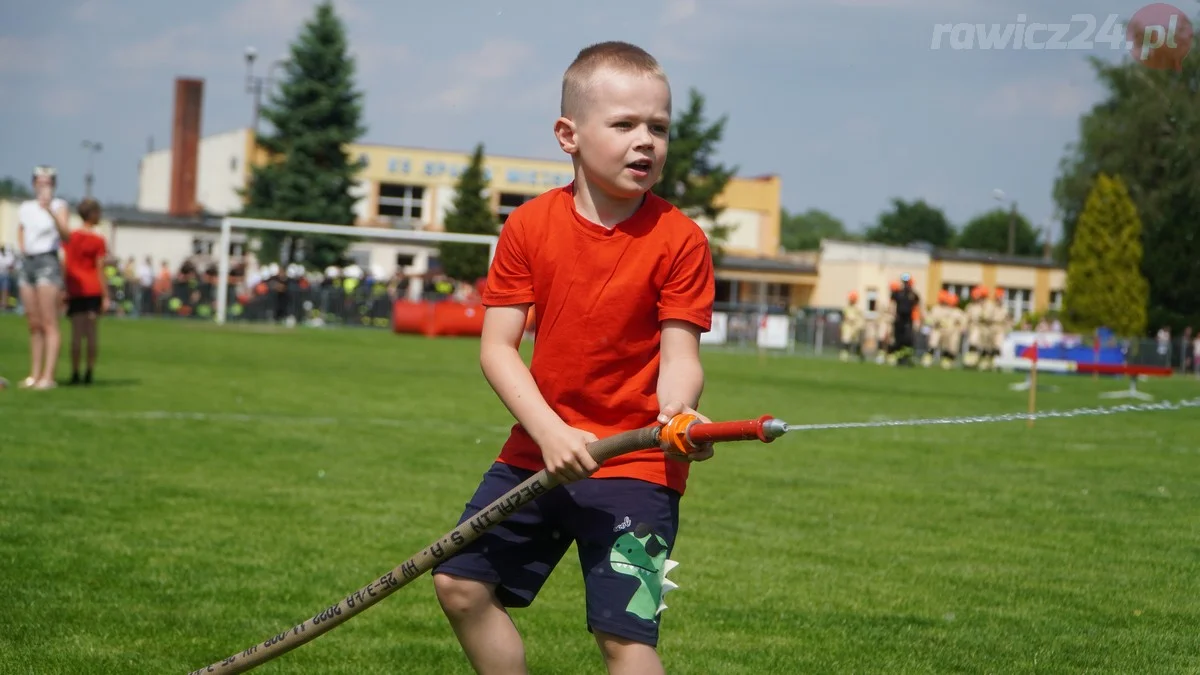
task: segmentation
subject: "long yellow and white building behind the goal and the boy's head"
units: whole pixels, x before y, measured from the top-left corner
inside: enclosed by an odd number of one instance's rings
[[[348,154],[365,167],[354,187],[356,225],[396,229],[440,231],[454,204],[458,177],[470,162],[466,151],[409,145],[352,144]],[[247,161],[253,157],[253,161]],[[204,137],[196,160],[196,198],[206,213],[222,215],[241,204],[256,153],[248,129]],[[488,199],[500,222],[512,209],[542,192],[574,179],[569,160],[538,160],[486,155]],[[167,211],[172,172],[184,171],[172,162],[169,148],[145,155],[139,165],[138,208]],[[728,227],[725,263],[718,270],[721,293],[752,299],[779,285],[811,283],[810,267],[778,258],[780,229],[780,179],[778,175],[733,178],[718,201],[720,222]],[[710,223],[697,219],[702,227]],[[766,261],[766,262],[763,262]],[[774,265],[769,274],[758,269]],[[776,286],[767,285],[775,283]],[[730,295],[730,293],[734,293]]]

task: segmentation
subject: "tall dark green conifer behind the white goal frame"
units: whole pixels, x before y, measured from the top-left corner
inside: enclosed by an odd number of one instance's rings
[[[251,172],[244,215],[331,225],[354,223],[350,187],[362,168],[347,154],[362,136],[362,95],[354,85],[354,59],[332,4],[316,13],[292,43],[286,77],[263,106],[272,131],[257,137],[268,154]],[[323,268],[337,264],[347,237],[263,232],[265,259]]]

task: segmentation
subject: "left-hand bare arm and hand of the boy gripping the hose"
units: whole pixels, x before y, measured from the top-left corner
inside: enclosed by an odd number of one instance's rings
[[[533,374],[517,348],[524,333],[528,305],[487,307],[480,336],[484,377],[541,448],[546,470],[560,482],[577,480],[599,468],[587,444],[596,437],[563,422],[538,390]]]

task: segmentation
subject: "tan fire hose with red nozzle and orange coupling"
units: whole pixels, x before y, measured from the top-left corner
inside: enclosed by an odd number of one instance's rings
[[[635,450],[661,448],[667,454],[685,458],[707,443],[731,441],[762,441],[769,443],[788,430],[786,423],[770,416],[736,422],[700,422],[692,414],[677,414],[662,425],[624,431],[588,444],[588,454],[596,461],[605,461]],[[425,546],[391,572],[372,580],[337,603],[320,610],[311,619],[277,633],[262,643],[251,645],[206,668],[192,670],[202,673],[245,673],[280,657],[300,645],[310,643],[337,626],[361,614],[385,597],[404,587],[438,563],[457,555],[480,534],[508,519],[517,509],[558,485],[558,480],[546,470],[530,476],[523,483],[484,507],[475,515],[446,532],[438,540]]]

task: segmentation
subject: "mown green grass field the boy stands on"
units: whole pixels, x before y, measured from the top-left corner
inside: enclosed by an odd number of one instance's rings
[[[24,325],[0,335],[16,382]],[[0,392],[0,673],[186,673],[260,643],[452,527],[511,423],[472,340],[158,321],[102,340],[96,386]],[[1015,375],[704,362],[714,419],[1026,407]],[[1122,387],[1051,381],[1042,410]],[[670,673],[1196,673],[1200,411],[724,446],[672,557]],[[604,671],[574,554],[515,619],[532,671]],[[260,671],[469,668],[425,575]]]

